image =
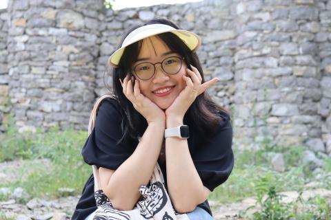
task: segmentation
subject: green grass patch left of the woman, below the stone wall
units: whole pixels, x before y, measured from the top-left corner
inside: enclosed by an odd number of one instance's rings
[[[12,172],[20,178],[0,183],[0,187],[23,187],[30,197],[59,197],[58,188],[74,188],[77,195],[91,174],[90,166],[83,162],[81,148],[87,132],[59,131],[46,133],[18,133],[9,126],[0,135],[0,162],[24,159],[23,166]],[[49,163],[36,159],[48,159]],[[0,198],[1,199],[1,198]]]

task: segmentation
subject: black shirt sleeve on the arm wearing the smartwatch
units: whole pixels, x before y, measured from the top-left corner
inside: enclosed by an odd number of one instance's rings
[[[228,179],[234,166],[230,116],[221,113],[221,117],[217,131],[192,155],[203,186],[210,191]]]

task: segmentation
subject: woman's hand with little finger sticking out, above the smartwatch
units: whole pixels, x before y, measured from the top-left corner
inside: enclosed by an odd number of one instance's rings
[[[186,73],[188,76],[183,75],[183,80],[185,80],[186,87],[181,91],[179,96],[172,102],[170,107],[165,110],[166,120],[171,118],[171,120],[183,121],[184,115],[194,100],[202,94],[205,89],[208,89],[217,81],[218,78],[213,78],[208,82],[201,84],[202,78],[199,70],[191,65],[192,70],[186,68]]]

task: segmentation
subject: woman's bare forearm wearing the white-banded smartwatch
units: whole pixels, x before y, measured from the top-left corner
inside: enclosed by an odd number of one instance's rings
[[[180,121],[168,122],[167,127],[175,127]],[[165,158],[167,164],[167,184],[170,199],[177,212],[190,212],[205,201],[209,195],[197,173],[188,141],[178,137],[165,139]]]

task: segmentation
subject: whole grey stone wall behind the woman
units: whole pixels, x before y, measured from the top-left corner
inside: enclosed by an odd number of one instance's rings
[[[9,85],[17,125],[86,129],[94,99],[107,91],[106,61],[123,32],[156,17],[203,39],[197,53],[206,80],[220,78],[209,91],[232,109],[235,142],[252,148],[270,137],[331,155],[326,0],[205,0],[115,12],[102,0],[12,0],[3,43],[9,80],[2,84]]]

